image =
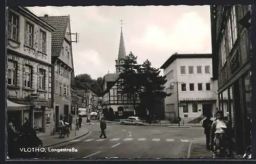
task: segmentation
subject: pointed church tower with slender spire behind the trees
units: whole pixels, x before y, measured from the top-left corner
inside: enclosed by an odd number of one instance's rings
[[[120,36],[120,43],[119,43],[119,51],[118,51],[118,58],[116,60],[116,73],[121,73],[123,71],[122,65],[124,64],[124,60],[126,57],[124,41],[123,41],[123,31],[122,31],[122,20],[121,20],[121,36]]]

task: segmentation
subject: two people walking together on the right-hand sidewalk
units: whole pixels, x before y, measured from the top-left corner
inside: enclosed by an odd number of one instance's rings
[[[206,148],[212,150],[214,158],[232,157],[230,125],[224,119],[223,111],[217,111],[216,117],[215,121],[210,120],[209,116],[203,121]]]

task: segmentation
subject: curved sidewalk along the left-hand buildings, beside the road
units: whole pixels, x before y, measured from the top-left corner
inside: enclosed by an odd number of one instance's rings
[[[66,135],[65,138],[60,139],[59,134],[57,132],[55,133],[55,135],[38,136],[38,138],[42,141],[43,147],[51,147],[61,143],[69,142],[71,140],[75,140],[88,133],[89,133],[89,129],[87,128],[87,126],[82,124],[81,128],[79,130],[76,130],[76,135],[75,135],[75,126],[72,125],[72,130],[70,131],[69,138]]]

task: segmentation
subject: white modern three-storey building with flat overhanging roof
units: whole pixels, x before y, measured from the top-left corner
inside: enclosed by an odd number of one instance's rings
[[[211,79],[211,54],[175,53],[160,69],[167,79],[165,92],[171,94],[165,98],[166,118],[189,123],[214,117],[218,95],[217,83]]]

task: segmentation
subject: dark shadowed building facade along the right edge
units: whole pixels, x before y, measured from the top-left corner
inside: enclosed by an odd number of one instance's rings
[[[251,7],[211,5],[213,78],[218,79],[219,109],[228,111],[233,150],[251,143]],[[225,113],[225,112],[224,112]]]

